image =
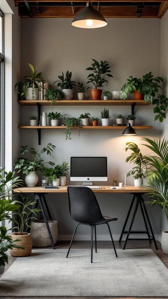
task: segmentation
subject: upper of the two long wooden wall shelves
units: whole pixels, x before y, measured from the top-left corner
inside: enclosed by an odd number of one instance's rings
[[[151,103],[145,103],[144,100],[56,100],[54,106],[129,106],[136,103],[138,106],[149,106]],[[19,104],[25,106],[49,106],[51,101],[47,100],[19,100]]]

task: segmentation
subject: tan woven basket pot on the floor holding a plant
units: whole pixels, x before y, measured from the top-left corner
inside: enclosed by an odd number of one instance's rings
[[[10,255],[13,257],[27,257],[31,254],[32,250],[32,238],[31,234],[29,233],[12,233],[10,234],[12,240],[19,239],[20,241],[16,242],[17,245],[25,247],[24,249],[21,248],[13,248],[9,249]]]

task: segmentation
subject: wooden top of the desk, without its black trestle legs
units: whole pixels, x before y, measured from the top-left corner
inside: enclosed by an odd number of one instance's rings
[[[14,193],[67,193],[68,186],[59,186],[58,189],[44,189],[39,187],[20,187],[13,190]],[[112,186],[100,186],[101,189],[92,189],[94,193],[146,193],[143,187],[126,186],[125,189],[110,189]]]

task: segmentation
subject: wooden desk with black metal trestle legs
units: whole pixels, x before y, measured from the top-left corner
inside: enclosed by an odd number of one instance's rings
[[[50,240],[51,240],[51,245],[52,245],[53,249],[55,249],[54,242],[53,242],[53,238],[52,238],[52,235],[51,235],[50,228],[48,226],[44,206],[47,210],[48,218],[49,219],[52,219],[52,218],[51,218],[51,214],[50,214],[50,211],[48,209],[48,205],[47,205],[47,202],[46,202],[46,199],[45,199],[45,194],[48,194],[48,193],[67,193],[67,187],[68,186],[59,186],[58,189],[44,189],[42,186],[39,186],[39,187],[20,187],[20,188],[16,188],[16,189],[13,190],[13,193],[34,193],[35,194],[33,208],[36,208],[38,204],[40,205],[40,208],[42,210],[42,214],[43,214],[43,217],[44,217],[44,220],[45,220],[45,224],[46,224],[46,227],[47,227],[47,230],[48,230],[48,234],[49,234],[49,237],[50,237]],[[102,187],[101,189],[92,189],[92,191],[94,193],[131,193],[131,194],[133,194],[133,199],[132,199],[131,205],[129,207],[128,214],[126,216],[126,220],[125,220],[125,223],[124,223],[121,235],[120,235],[120,239],[119,239],[119,242],[121,242],[123,234],[126,234],[126,240],[125,240],[123,249],[126,248],[126,243],[129,240],[132,240],[132,241],[149,240],[149,243],[151,243],[151,241],[154,241],[155,248],[158,249],[158,246],[157,246],[156,240],[155,240],[155,236],[153,234],[152,226],[151,226],[151,223],[150,223],[150,220],[149,220],[149,216],[148,216],[148,213],[147,213],[147,210],[146,210],[146,206],[144,205],[144,200],[143,200],[143,197],[142,197],[142,194],[147,193],[147,189],[146,188],[141,188],[141,187],[135,187],[135,186],[127,186],[127,187],[124,187],[125,189],[110,189],[110,186],[101,186],[101,187]],[[43,199],[43,202],[42,202],[42,199]],[[133,208],[133,204],[134,204],[135,199],[136,199],[136,204],[135,204],[134,212],[133,212],[132,219],[131,219],[131,222],[130,222],[130,225],[129,225],[129,229],[128,229],[128,231],[125,231],[126,224],[128,222],[128,219],[129,219],[131,210]],[[132,228],[132,225],[133,225],[133,222],[134,222],[134,219],[135,219],[135,215],[136,215],[137,210],[138,210],[138,206],[140,206],[140,209],[141,209],[141,212],[142,212],[142,216],[143,216],[143,220],[144,220],[144,223],[145,223],[146,231],[131,231],[131,228]],[[30,223],[28,223],[28,224],[30,224]],[[151,234],[149,234],[148,225],[149,225]],[[148,238],[133,239],[133,238],[129,238],[130,234],[147,234]]]

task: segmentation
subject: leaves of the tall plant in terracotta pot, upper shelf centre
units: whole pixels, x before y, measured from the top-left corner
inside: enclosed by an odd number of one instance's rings
[[[93,63],[91,67],[86,68],[87,71],[93,71],[91,74],[88,75],[87,79],[88,83],[92,83],[95,86],[95,89],[99,87],[103,87],[103,84],[108,81],[105,79],[106,77],[113,77],[111,71],[109,70],[109,62],[107,60],[102,61],[99,63],[97,60],[92,59]],[[89,87],[88,87],[89,88]],[[87,88],[87,89],[88,89]]]

